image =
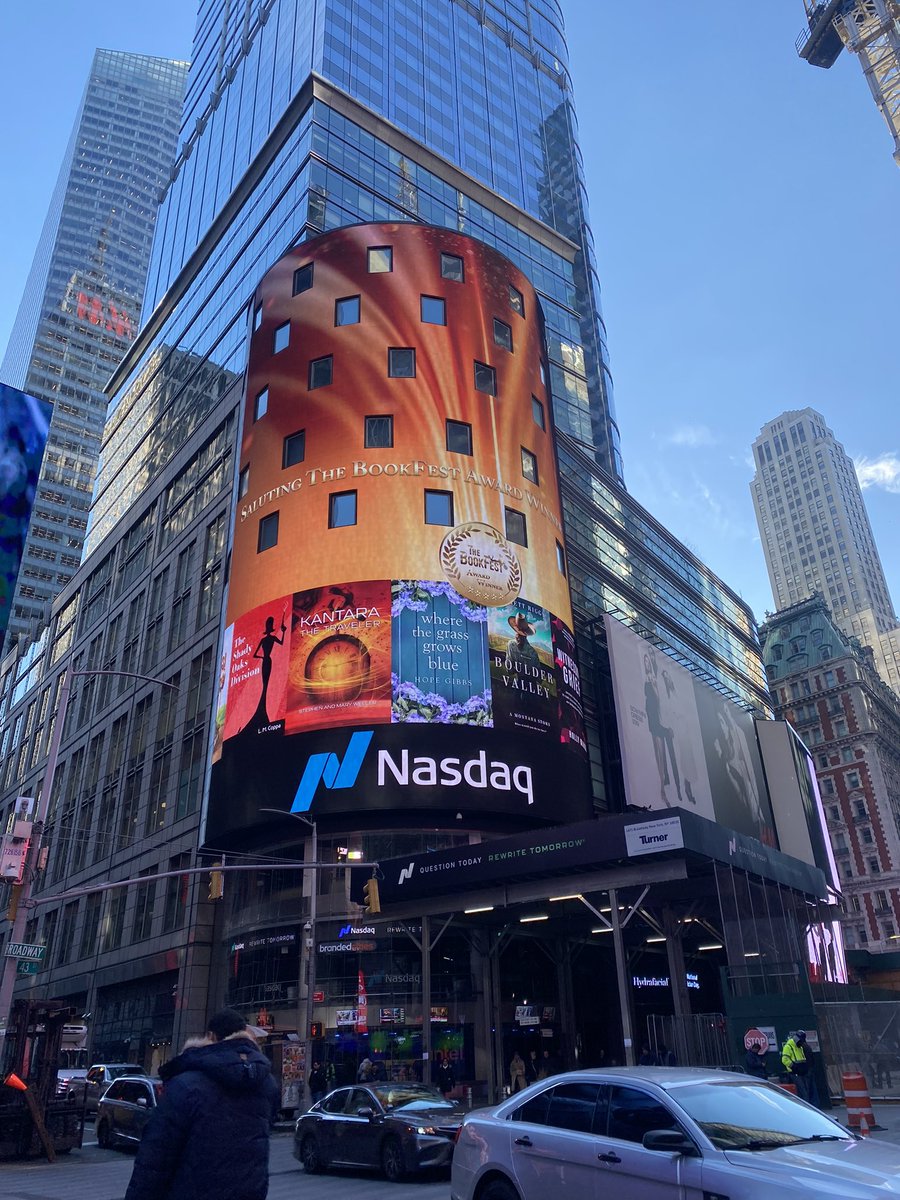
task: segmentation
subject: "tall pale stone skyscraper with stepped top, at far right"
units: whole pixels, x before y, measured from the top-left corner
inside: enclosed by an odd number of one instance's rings
[[[896,690],[898,618],[852,458],[821,413],[804,408],[763,426],[754,460],[750,491],[775,607],[823,595],[838,626],[872,647]]]

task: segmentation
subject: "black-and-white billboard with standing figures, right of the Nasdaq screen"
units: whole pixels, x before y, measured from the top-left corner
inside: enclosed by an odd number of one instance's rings
[[[754,719],[605,618],[628,803],[686,809],[778,846]]]

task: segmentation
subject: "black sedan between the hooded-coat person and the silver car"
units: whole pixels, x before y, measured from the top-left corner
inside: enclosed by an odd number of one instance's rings
[[[313,1104],[294,1127],[294,1157],[310,1175],[376,1166],[391,1181],[449,1166],[466,1110],[422,1084],[358,1084]]]

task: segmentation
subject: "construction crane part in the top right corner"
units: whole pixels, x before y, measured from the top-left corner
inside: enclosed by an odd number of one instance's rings
[[[803,0],[806,29],[797,52],[814,67],[830,67],[846,48],[863,74],[894,139],[900,166],[900,2],[898,0]]]

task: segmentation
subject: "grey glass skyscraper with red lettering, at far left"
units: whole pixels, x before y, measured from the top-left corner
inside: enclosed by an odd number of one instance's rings
[[[0,376],[53,404],[10,634],[34,632],[82,559],[104,385],[140,320],[187,64],[97,50]]]

